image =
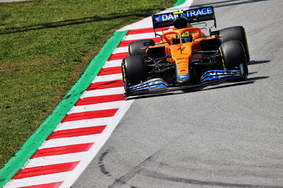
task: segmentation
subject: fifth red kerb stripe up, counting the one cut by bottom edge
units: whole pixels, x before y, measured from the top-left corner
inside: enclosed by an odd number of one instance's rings
[[[79,113],[73,113],[73,114],[67,114],[67,116],[64,117],[62,122],[71,122],[71,121],[77,121],[82,119],[94,119],[94,118],[101,118],[101,117],[112,117],[117,112],[117,108],[115,109],[109,109],[109,110],[96,110],[96,111],[90,111],[90,112],[79,112]]]

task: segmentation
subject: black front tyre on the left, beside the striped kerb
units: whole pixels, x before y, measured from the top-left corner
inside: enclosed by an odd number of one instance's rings
[[[128,87],[146,81],[146,65],[141,55],[125,57],[122,60],[122,77],[126,93]]]

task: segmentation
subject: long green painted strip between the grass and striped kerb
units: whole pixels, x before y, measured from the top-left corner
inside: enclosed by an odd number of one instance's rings
[[[43,141],[49,136],[57,125],[66,116],[67,112],[71,110],[77,100],[81,97],[83,92],[91,84],[91,81],[96,77],[100,69],[108,60],[113,50],[119,45],[122,38],[127,34],[126,31],[116,31],[112,37],[105,43],[100,52],[88,65],[81,78],[76,81],[75,85],[69,90],[64,99],[57,105],[55,110],[43,122],[40,127],[35,131],[35,134],[30,136],[22,148],[13,156],[8,163],[0,170],[0,187],[3,187],[8,181],[11,180],[13,175],[20,170],[23,165],[28,161],[31,155],[37,151]]]

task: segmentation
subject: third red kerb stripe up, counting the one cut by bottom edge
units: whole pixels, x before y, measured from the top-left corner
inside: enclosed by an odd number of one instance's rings
[[[30,158],[40,158],[52,155],[63,155],[67,153],[79,153],[83,151],[88,151],[93,143],[81,143],[76,145],[69,145],[69,146],[59,146],[53,148],[43,148],[39,149],[31,156]]]

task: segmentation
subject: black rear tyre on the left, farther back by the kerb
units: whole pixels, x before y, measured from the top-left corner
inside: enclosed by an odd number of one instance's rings
[[[154,46],[154,40],[138,40],[129,43],[129,55],[145,55],[146,49],[141,49],[146,46]]]

